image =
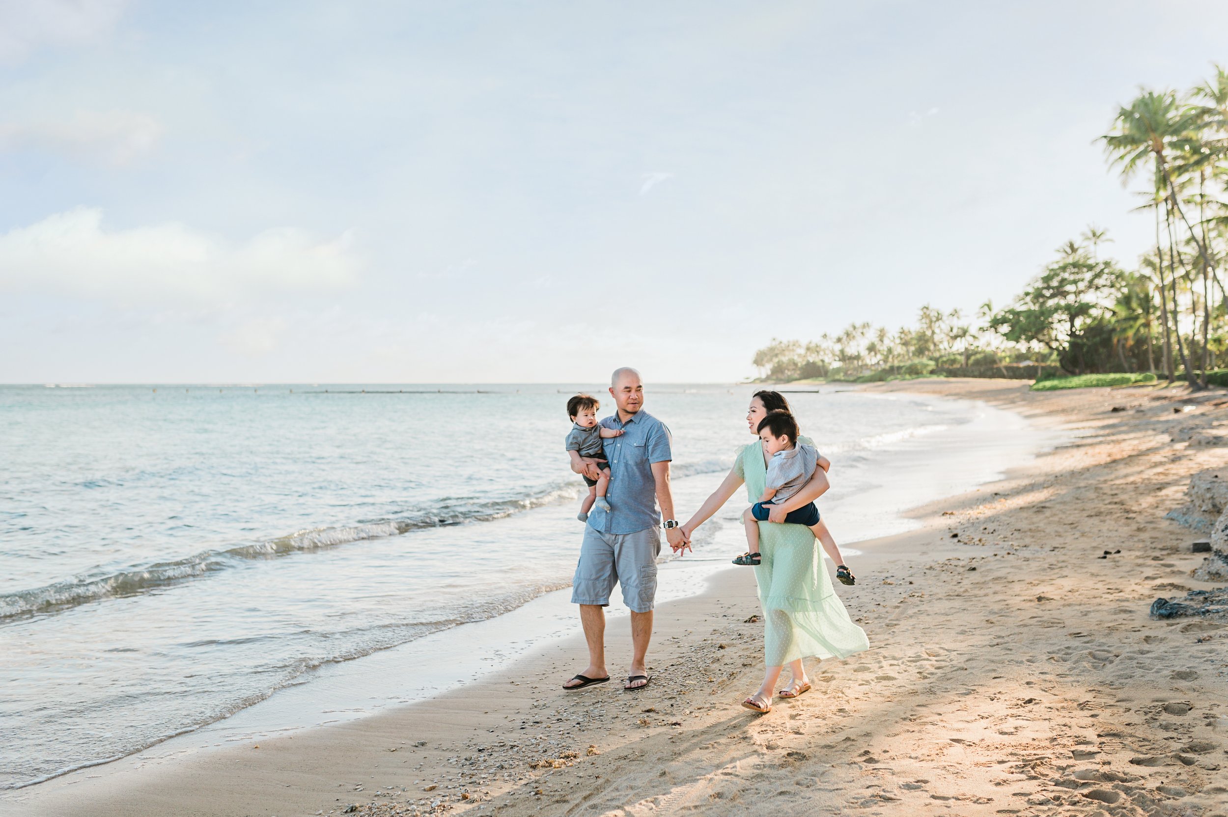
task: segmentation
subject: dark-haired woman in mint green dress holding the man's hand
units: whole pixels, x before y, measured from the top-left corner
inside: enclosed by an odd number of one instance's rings
[[[780,392],[755,392],[747,412],[750,432],[758,435],[759,421],[768,412],[774,410],[790,410],[785,397]],[[806,437],[799,440],[810,442]],[[690,541],[695,528],[716,514],[743,483],[749,500],[754,502],[763,494],[768,459],[763,444],[756,440],[743,447],[729,475],[683,525],[683,536]],[[788,511],[815,500],[826,489],[826,474],[818,468],[814,478],[801,491],[772,510],[771,518],[782,520]],[[814,534],[808,527],[760,522],[759,534],[763,557],[755,566],[755,581],[759,584],[759,603],[764,611],[766,670],[759,692],[742,702],[742,705],[758,713],[768,713],[771,711],[772,694],[783,665],[788,665],[792,681],[780,692],[780,697],[797,698],[810,688],[802,659],[844,659],[869,649],[869,641],[866,633],[849,618],[849,612],[831,588],[826,564],[814,547]]]

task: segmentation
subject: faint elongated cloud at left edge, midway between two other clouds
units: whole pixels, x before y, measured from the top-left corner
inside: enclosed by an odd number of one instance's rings
[[[125,165],[151,151],[161,136],[162,123],[131,111],[79,111],[59,122],[0,123],[0,150],[33,147],[104,165]]]

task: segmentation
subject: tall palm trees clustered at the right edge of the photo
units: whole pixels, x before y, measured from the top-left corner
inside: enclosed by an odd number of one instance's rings
[[[1154,211],[1156,247],[1140,262],[1116,303],[1119,342],[1142,335],[1149,366],[1159,302],[1160,364],[1172,381],[1178,364],[1192,386],[1223,351],[1212,337],[1228,307],[1219,267],[1228,204],[1228,71],[1185,93],[1142,90],[1122,106],[1102,136],[1110,167],[1124,183],[1142,177],[1143,208]],[[1187,316],[1187,317],[1186,317]]]

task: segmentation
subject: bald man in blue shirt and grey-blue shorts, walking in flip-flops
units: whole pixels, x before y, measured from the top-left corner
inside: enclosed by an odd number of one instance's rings
[[[631,611],[631,672],[624,689],[648,686],[645,655],[652,638],[652,607],[657,595],[657,554],[666,530],[669,547],[686,547],[674,520],[674,500],[669,493],[669,429],[643,410],[643,385],[640,372],[619,369],[610,377],[610,396],[618,412],[602,420],[608,429],[623,435],[609,437],[605,458],[609,462],[609,511],[594,509],[585,526],[580,544],[580,563],[572,581],[571,602],[580,604],[580,622],[588,641],[588,668],[564,684],[581,689],[609,681],[605,671],[605,611],[614,585],[621,585],[623,601]],[[571,452],[571,469],[597,478],[597,466]],[[661,512],[657,511],[661,506]],[[661,514],[666,521],[661,523]]]

